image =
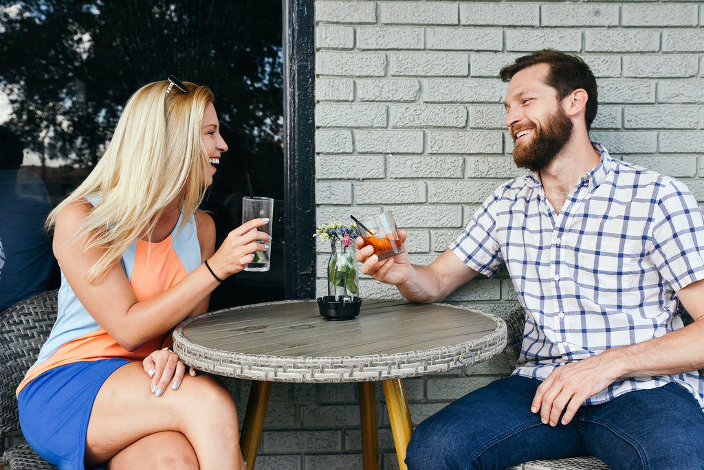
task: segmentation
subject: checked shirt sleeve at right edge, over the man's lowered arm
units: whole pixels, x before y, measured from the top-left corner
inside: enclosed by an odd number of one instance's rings
[[[687,186],[662,177],[653,208],[650,256],[675,291],[704,279],[704,216]]]

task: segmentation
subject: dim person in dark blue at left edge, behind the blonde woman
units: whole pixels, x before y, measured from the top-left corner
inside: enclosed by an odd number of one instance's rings
[[[53,208],[41,178],[20,168],[24,146],[0,126],[0,239],[5,267],[0,278],[0,311],[46,291],[56,260],[44,231]]]

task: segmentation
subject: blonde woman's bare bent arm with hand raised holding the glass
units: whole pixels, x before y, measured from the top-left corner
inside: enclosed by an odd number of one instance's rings
[[[146,341],[164,334],[181,319],[197,315],[207,309],[209,294],[220,284],[205,267],[200,265],[182,281],[167,291],[139,302],[132,291],[120,263],[116,263],[99,281],[90,283],[87,272],[100,258],[101,248],[84,250],[84,239],[77,239],[75,233],[92,206],[83,201],[66,206],[56,219],[54,229],[54,254],[71,288],[83,306],[103,326],[115,341],[126,350],[136,350]],[[205,214],[196,217],[203,236],[212,238],[201,242],[201,257],[213,252],[215,245],[214,225],[208,222]],[[209,217],[208,217],[209,218]],[[252,259],[251,253],[258,243],[248,243],[256,239],[268,240],[256,227],[265,224],[263,220],[253,220],[234,229],[228,236],[230,243],[216,254],[218,276],[222,278],[244,269]],[[211,267],[215,267],[211,264]]]

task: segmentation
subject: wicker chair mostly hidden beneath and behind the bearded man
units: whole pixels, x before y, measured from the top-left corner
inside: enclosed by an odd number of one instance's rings
[[[506,318],[508,333],[506,356],[511,364],[518,359],[520,354],[525,322],[525,312],[522,307],[513,310]],[[507,470],[609,470],[609,467],[596,457],[571,457],[558,460],[533,460],[512,466]]]

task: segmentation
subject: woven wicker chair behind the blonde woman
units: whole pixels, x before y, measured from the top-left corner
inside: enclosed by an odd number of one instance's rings
[[[57,294],[44,292],[0,313],[0,464],[6,469],[56,469],[25,443],[15,388],[56,321]]]

